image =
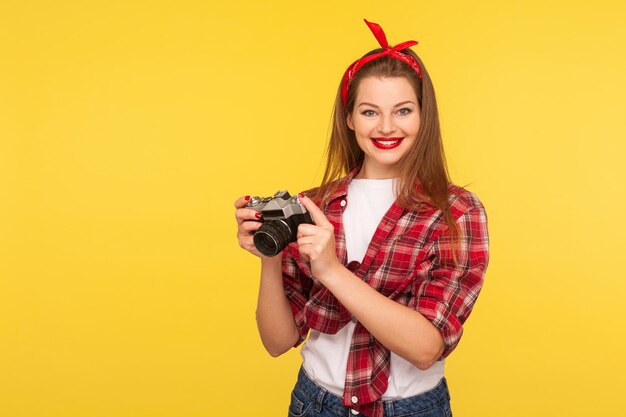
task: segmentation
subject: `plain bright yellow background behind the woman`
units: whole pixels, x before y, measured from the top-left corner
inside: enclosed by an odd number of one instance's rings
[[[232,202],[321,176],[354,59],[416,39],[491,264],[456,417],[626,415],[623,1],[3,1],[0,415],[283,416]]]

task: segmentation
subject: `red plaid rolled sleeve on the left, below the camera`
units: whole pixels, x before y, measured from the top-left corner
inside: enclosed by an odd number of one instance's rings
[[[308,278],[298,266],[293,253],[293,245],[283,251],[282,270],[285,295],[291,306],[300,337],[294,347],[300,345],[309,333],[306,325],[305,306],[309,300],[313,280]]]

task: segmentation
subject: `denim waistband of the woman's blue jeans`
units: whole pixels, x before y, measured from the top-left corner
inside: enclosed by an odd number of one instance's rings
[[[326,409],[341,416],[345,416],[346,411],[350,410],[349,407],[345,407],[342,404],[342,398],[328,392],[325,388],[322,388],[311,380],[304,368],[300,368],[295,390],[305,395],[310,401],[315,402],[314,408],[318,411],[321,409],[322,405]],[[445,378],[441,378],[437,386],[429,391],[399,400],[385,400],[383,401],[383,405],[385,416],[391,417],[404,415],[407,412],[415,413],[426,411],[446,401],[450,401],[448,384]]]

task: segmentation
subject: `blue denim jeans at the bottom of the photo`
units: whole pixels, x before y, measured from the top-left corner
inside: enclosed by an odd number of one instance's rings
[[[385,417],[452,417],[446,379],[430,391],[401,400],[383,401]],[[291,393],[289,417],[354,417],[341,398],[313,382],[300,368]]]

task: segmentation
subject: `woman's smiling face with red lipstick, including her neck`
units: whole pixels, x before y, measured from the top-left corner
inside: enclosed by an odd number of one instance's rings
[[[398,162],[415,143],[420,127],[413,87],[402,77],[364,78],[347,123],[365,153],[357,178],[396,178]]]

